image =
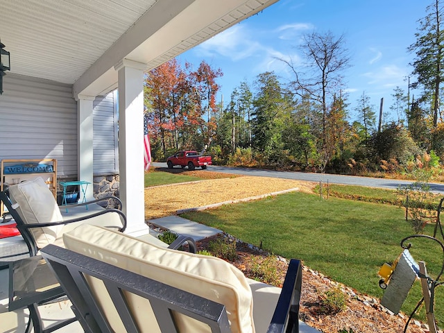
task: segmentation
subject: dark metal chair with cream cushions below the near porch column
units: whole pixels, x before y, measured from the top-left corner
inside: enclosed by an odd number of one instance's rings
[[[23,195],[22,192],[29,188],[31,191]],[[32,196],[34,197],[30,200]],[[121,232],[126,229],[126,216],[121,211],[122,203],[119,198],[108,196],[85,203],[58,206],[42,178],[11,185],[8,191],[0,191],[0,200],[17,223],[17,229],[31,256],[48,244],[63,246],[62,234],[82,223],[101,225]],[[66,213],[65,210],[69,212]],[[151,238],[160,242],[155,237]],[[184,243],[189,245],[189,251],[196,252],[196,244],[190,237],[178,237],[170,248],[179,248]]]

